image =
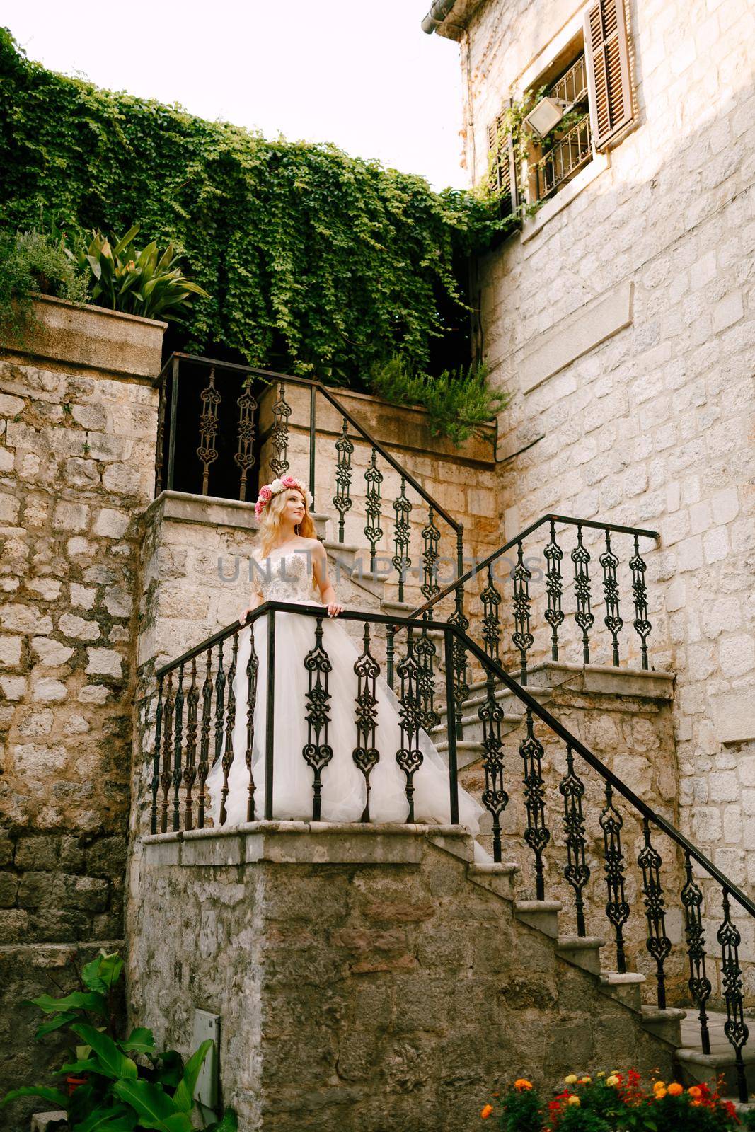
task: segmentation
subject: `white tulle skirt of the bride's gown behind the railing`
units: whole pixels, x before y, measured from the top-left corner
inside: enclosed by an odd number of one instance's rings
[[[299,602],[298,602],[299,603]],[[308,602],[301,602],[308,604]],[[307,692],[308,672],[304,657],[315,644],[316,621],[312,617],[295,614],[275,615],[275,703],[273,757],[273,817],[276,820],[311,821],[314,770],[306,762],[302,749],[308,743]],[[258,660],[257,697],[254,707],[254,739],[251,777],[255,783],[255,817],[265,813],[266,780],[266,715],[267,715],[267,617],[239,634],[237,670],[233,679],[235,722],[233,727],[233,762],[229,772],[229,794],[225,801],[226,824],[247,821],[249,797],[248,745],[248,689],[247,664],[251,651],[251,632]],[[357,766],[353,751],[358,744],[354,710],[358,677],[354,662],[359,653],[348,632],[336,619],[323,618],[323,648],[332,670],[328,674],[327,702],[329,721],[327,744],[333,757],[321,770],[321,808],[324,822],[358,822],[367,801],[364,774]],[[402,746],[400,703],[380,677],[376,680],[375,746],[379,760],[369,777],[369,817],[372,822],[405,822],[410,807],[406,797],[406,775],[396,762]],[[325,737],[320,734],[320,741]],[[424,731],[415,741],[422,763],[413,775],[415,822],[451,822],[451,792],[448,764]],[[220,820],[223,767],[218,760],[209,772],[209,813]],[[458,820],[471,833],[479,831],[482,806],[458,788]]]

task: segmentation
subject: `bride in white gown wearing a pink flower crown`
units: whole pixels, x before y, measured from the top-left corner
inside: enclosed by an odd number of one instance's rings
[[[354,762],[359,744],[354,709],[358,677],[354,662],[359,658],[351,637],[334,618],[343,610],[328,577],[325,547],[315,537],[309,508],[312,499],[304,484],[292,475],[273,480],[260,488],[255,513],[259,521],[252,555],[254,582],[251,601],[240,615],[247,616],[264,601],[286,601],[294,604],[323,606],[321,645],[332,666],[328,672],[327,704],[329,721],[327,743],[332,757],[321,770],[320,818],[326,822],[359,822],[369,811],[372,822],[405,822],[409,812],[406,775],[396,762],[402,747],[400,703],[380,677],[376,680],[375,747],[379,753],[366,780]],[[314,585],[319,592],[315,598]],[[249,796],[248,694],[247,666],[254,632],[258,662],[256,703],[254,707],[254,741],[251,773],[256,783],[256,817],[263,816],[266,771],[267,706],[267,618],[258,618],[239,634],[239,650],[233,680],[235,721],[233,727],[233,762],[228,777],[225,821],[235,825],[247,821]],[[307,763],[303,748],[309,741],[306,696],[309,674],[304,658],[316,643],[317,619],[297,614],[275,614],[275,700],[273,746],[273,817],[276,820],[311,821],[315,772]],[[412,786],[415,822],[448,823],[451,821],[448,765],[424,731],[414,741],[422,755]],[[222,760],[213,766],[207,787],[212,798],[212,815],[217,825],[224,771]],[[367,786],[369,781],[369,790]],[[369,796],[369,797],[368,797]],[[470,832],[479,831],[483,807],[460,788],[460,823]]]

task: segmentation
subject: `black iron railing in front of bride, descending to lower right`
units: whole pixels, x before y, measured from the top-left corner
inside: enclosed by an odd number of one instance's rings
[[[308,693],[303,703],[292,702],[293,681],[289,681],[285,711],[301,712],[307,723],[307,743],[301,757],[312,775],[312,821],[319,820],[323,791],[327,790],[321,771],[334,756],[328,743],[332,700],[328,672],[332,666],[323,643],[325,610],[267,602],[248,620],[254,625],[260,618],[267,619],[266,632],[260,635],[268,674],[265,735],[258,740],[258,748],[264,745],[265,751],[265,780],[258,783],[254,779],[255,727],[259,724],[255,720],[259,693],[256,634],[252,629],[247,680],[238,683],[235,671],[242,629],[234,624],[156,672],[151,783],[153,833],[207,825],[206,782],[212,763],[222,767],[220,811],[216,812],[218,824],[225,823],[229,775],[234,757],[239,757],[238,753],[234,755],[231,736],[239,723],[246,736],[241,767],[246,782],[246,817],[251,822],[285,818],[285,813],[274,809],[278,754],[274,741],[275,713],[280,710],[275,695],[275,642],[276,615],[280,614],[315,623],[312,649],[300,658],[308,674]],[[724,1032],[735,1054],[740,1098],[746,1100],[743,1048],[748,1039],[748,1027],[739,955],[741,934],[731,906],[732,901],[738,903],[753,917],[755,903],[458,626],[430,620],[418,624],[410,618],[352,611],[344,612],[342,618],[358,621],[362,627],[363,648],[353,666],[358,694],[353,701],[353,747],[349,751],[364,775],[361,821],[370,820],[369,779],[381,758],[395,760],[401,767],[405,778],[407,820],[413,821],[414,778],[423,760],[420,734],[435,726],[444,695],[446,706],[453,703],[455,692],[451,671],[453,648],[457,642],[486,675],[486,696],[478,709],[484,777],[480,800],[489,815],[494,859],[503,859],[504,848],[507,856],[517,856],[531,876],[539,901],[548,895],[563,898],[568,893],[570,910],[567,915],[574,917],[578,938],[584,940],[592,932],[597,934],[595,929],[599,931],[601,921],[606,920],[619,974],[626,971],[628,957],[641,960],[645,952],[654,968],[658,1007],[664,1010],[671,1000],[678,1004],[692,1002],[698,1015],[704,1053],[710,1053],[707,1011],[714,998],[715,977],[720,975],[720,995],[727,1011]],[[386,653],[385,666],[372,649],[378,626],[391,634],[392,646]],[[446,660],[445,685],[439,686],[436,686],[439,658],[432,634],[441,635]],[[420,641],[429,642],[432,648],[419,650]],[[397,697],[400,740],[396,751],[378,751],[376,746],[376,707],[380,695],[387,695],[385,684],[380,683],[383,671],[387,684],[395,686]],[[501,685],[518,704],[520,774],[512,774],[508,765],[504,736],[506,719],[496,696]],[[244,689],[243,698],[237,702],[240,688]],[[514,746],[511,740],[509,746]],[[460,801],[453,727],[447,730],[446,752],[449,814],[456,823]],[[261,804],[257,803],[258,790]],[[550,813],[550,799],[557,796],[561,799],[558,815]],[[509,806],[518,806],[523,815],[518,837],[504,829],[503,817]],[[556,835],[559,832],[560,838]],[[667,847],[663,855],[658,848],[659,839]],[[593,860],[597,844],[602,846],[599,867]],[[632,844],[634,852],[628,854],[627,846]],[[685,946],[679,943],[676,950],[667,919],[672,912],[679,912],[684,921]],[[633,926],[636,928],[634,935]],[[715,934],[718,952],[709,946],[711,933]]]

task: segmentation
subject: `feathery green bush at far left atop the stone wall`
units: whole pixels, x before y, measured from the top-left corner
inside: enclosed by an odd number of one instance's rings
[[[62,238],[36,230],[0,235],[0,332],[11,342],[28,328],[32,293],[86,302],[87,292],[87,278],[66,255]]]

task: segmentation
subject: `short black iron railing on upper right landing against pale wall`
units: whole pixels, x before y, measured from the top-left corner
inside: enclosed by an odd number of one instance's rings
[[[572,549],[565,544],[567,532],[574,535]],[[647,669],[652,623],[642,544],[658,538],[657,531],[636,526],[542,515],[447,585],[438,586],[411,617],[443,617],[443,603],[445,608],[453,603],[449,619],[469,632],[488,657],[509,670],[517,668],[522,684],[527,683],[532,667],[547,659],[606,662],[615,668],[636,663]],[[568,560],[570,577],[565,569]],[[461,739],[463,706],[473,685],[460,638],[454,650],[456,737]]]

